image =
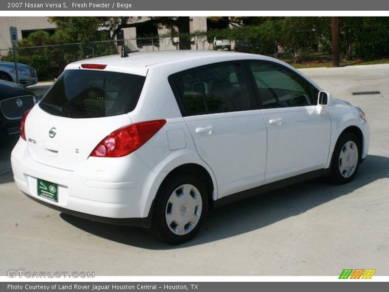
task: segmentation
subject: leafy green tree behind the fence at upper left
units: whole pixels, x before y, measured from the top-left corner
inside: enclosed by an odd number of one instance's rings
[[[53,35],[40,30],[18,42],[19,62],[33,66],[39,79],[57,77],[67,64],[76,60],[117,54],[109,31],[99,29],[102,18],[54,17],[51,20],[57,25]],[[99,42],[105,40],[108,42]]]

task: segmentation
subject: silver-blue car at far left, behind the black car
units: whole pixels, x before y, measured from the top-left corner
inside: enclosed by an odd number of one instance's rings
[[[18,63],[19,83],[28,86],[38,83],[36,70],[26,64]],[[0,62],[0,80],[16,81],[16,71],[14,62]]]

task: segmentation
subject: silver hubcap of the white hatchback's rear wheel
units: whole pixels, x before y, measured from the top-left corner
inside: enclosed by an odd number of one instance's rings
[[[194,185],[180,185],[170,195],[166,204],[167,226],[176,235],[190,233],[200,219],[202,206],[200,192]]]

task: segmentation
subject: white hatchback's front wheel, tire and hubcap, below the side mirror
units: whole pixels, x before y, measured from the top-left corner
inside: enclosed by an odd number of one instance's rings
[[[343,134],[336,143],[330,179],[334,183],[351,182],[359,167],[361,146],[353,133]]]

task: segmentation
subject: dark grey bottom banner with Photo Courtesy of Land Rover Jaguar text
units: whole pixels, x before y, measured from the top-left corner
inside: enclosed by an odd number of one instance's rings
[[[387,291],[386,282],[2,282],[2,292],[366,292]],[[386,287],[386,288],[385,288]]]

